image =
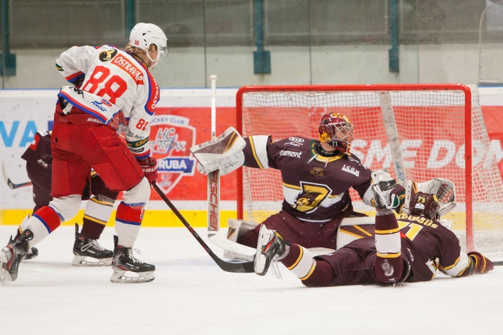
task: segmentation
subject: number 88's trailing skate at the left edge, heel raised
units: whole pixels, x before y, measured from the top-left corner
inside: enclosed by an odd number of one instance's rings
[[[0,252],[0,283],[13,282],[18,279],[19,263],[28,253],[28,241],[33,239],[33,233],[25,230],[21,236],[14,240]]]

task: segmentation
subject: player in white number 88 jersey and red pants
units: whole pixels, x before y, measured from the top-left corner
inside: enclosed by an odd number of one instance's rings
[[[125,50],[110,45],[72,47],[56,60],[65,79],[81,86],[64,86],[58,94],[51,137],[54,199],[37,210],[24,232],[0,252],[0,281],[16,280],[28,248],[75,216],[91,168],[109,189],[124,191],[115,217],[111,281],[154,279],[155,266],[137,260],[132,248],[150,183],[157,177],[148,139],[159,88],[149,69],[160,57],[167,57],[164,32],[139,23]],[[127,145],[119,132],[124,132]]]

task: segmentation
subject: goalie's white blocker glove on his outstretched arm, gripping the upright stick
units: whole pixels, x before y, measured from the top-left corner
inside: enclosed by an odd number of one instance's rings
[[[220,174],[225,175],[243,165],[245,146],[246,142],[241,135],[233,127],[229,127],[222,135],[193,146],[190,151],[198,161],[197,170],[200,173],[220,170]]]

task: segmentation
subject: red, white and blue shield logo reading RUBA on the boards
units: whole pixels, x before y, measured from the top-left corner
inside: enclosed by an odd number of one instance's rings
[[[196,144],[196,129],[189,119],[156,115],[150,122],[150,150],[157,160],[157,183],[169,193],[183,176],[193,176],[195,158],[190,148]]]

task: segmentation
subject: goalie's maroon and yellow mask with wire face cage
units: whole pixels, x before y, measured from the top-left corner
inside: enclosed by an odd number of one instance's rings
[[[344,114],[325,114],[321,118],[318,132],[321,142],[326,142],[341,152],[350,153],[353,125]]]

